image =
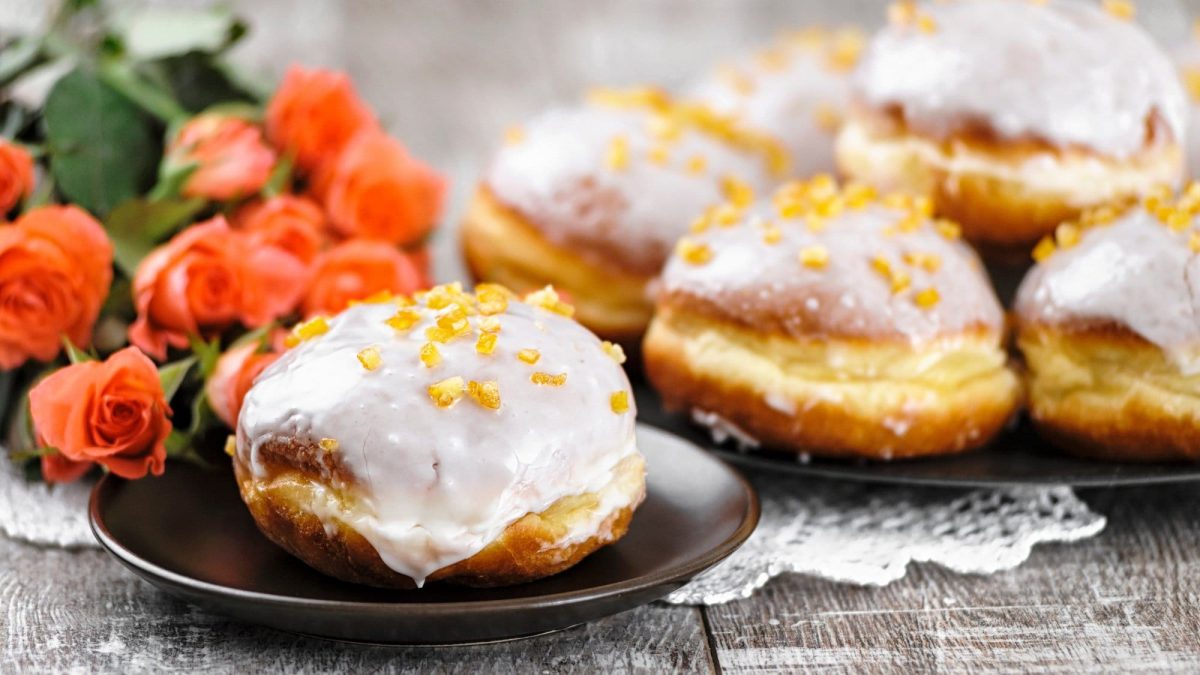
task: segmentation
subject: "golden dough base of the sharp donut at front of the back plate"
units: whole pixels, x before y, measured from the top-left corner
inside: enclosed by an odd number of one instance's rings
[[[1020,400],[990,330],[920,347],[806,342],[696,309],[659,307],[643,345],[647,375],[668,407],[716,411],[774,449],[884,460],[952,454],[990,440]]]

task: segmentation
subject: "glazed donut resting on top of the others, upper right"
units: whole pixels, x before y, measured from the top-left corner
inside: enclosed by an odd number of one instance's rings
[[[1078,0],[899,2],[890,17],[852,77],[847,178],[929,196],[989,255],[1027,255],[1086,208],[1182,179],[1183,90],[1128,17]]]

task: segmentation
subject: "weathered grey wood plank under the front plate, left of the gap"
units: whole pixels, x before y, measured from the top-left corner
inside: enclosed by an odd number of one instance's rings
[[[516,643],[377,647],[235,623],[192,608],[97,550],[0,537],[0,671],[710,671],[700,610],[646,607]]]

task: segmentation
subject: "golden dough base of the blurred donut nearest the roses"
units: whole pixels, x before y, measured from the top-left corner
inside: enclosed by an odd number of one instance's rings
[[[575,318],[607,340],[636,344],[654,312],[646,294],[650,277],[618,265],[598,267],[552,244],[485,186],[472,199],[461,237],[475,280],[517,291],[551,283],[570,295]]]

